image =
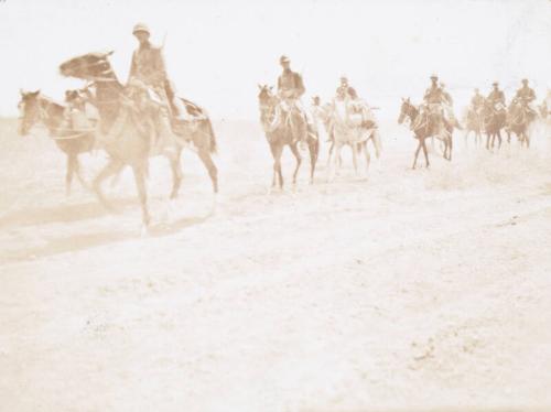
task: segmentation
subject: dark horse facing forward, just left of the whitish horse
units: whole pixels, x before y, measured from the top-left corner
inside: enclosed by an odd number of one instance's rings
[[[305,115],[295,107],[287,106],[272,91],[273,87],[258,85],[258,104],[260,108],[260,124],[270,145],[273,156],[272,187],[283,188],[283,173],[281,171],[281,155],[285,145],[291,149],[296,166],[293,172],[293,185],[302,163],[298,148],[301,140],[306,140],[310,152],[310,184],[314,183],[315,166],[320,154],[320,137],[317,131],[309,127]]]

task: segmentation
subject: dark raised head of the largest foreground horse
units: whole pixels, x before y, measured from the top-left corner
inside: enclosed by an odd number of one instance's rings
[[[89,79],[116,79],[109,63],[109,53],[88,53],[73,57],[60,66],[60,73],[67,77]]]

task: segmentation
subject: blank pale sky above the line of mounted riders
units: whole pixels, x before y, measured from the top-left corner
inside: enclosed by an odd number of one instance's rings
[[[305,102],[331,98],[341,75],[361,97],[396,117],[401,96],[415,102],[432,73],[461,107],[474,87],[499,80],[509,97],[522,77],[540,101],[551,87],[551,1],[0,1],[0,116],[14,116],[19,88],[61,99],[79,80],[58,65],[114,50],[126,82],[145,22],[179,94],[215,119],[257,119],[257,84],[274,84],[281,54],[302,73]]]

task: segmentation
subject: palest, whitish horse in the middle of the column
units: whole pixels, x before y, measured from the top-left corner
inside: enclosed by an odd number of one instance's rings
[[[364,112],[366,111],[366,112]],[[349,145],[352,149],[353,164],[356,175],[358,174],[358,155],[364,152],[366,159],[366,174],[369,172],[371,155],[367,143],[371,141],[375,145],[376,156],[380,156],[380,138],[375,120],[366,120],[370,116],[367,108],[360,100],[333,100],[328,113],[328,133],[332,140],[329,156],[329,181],[334,176],[334,171],[341,165],[341,151],[343,147]]]

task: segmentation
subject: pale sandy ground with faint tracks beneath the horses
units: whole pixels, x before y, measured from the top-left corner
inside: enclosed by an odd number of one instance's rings
[[[267,194],[259,128],[218,122],[217,208],[185,153],[166,216],[154,159],[140,238],[128,171],[112,215],[78,184],[65,198],[52,141],[1,130],[1,411],[551,410],[543,134],[499,153],[456,137],[452,163],[410,171],[387,124],[368,181],[346,154],[326,183],[325,144],[315,185],[304,167]]]

